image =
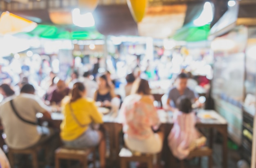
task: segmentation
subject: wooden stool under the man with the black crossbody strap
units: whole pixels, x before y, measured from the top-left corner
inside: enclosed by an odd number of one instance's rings
[[[43,149],[43,146],[36,146],[34,148],[23,149],[23,150],[9,148],[8,157],[9,157],[9,162],[11,164],[11,167],[13,168],[15,166],[14,154],[22,154],[22,155],[31,155],[33,168],[38,168],[38,152],[42,149]]]

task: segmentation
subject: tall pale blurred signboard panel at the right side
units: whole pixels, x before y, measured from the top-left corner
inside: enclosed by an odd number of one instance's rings
[[[211,44],[214,52],[212,95],[216,111],[228,122],[229,137],[241,144],[248,29],[236,27]]]

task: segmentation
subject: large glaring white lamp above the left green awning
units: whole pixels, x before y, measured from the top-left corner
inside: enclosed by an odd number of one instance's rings
[[[79,27],[93,27],[95,25],[92,13],[80,14],[80,9],[76,8],[72,11],[72,21]]]

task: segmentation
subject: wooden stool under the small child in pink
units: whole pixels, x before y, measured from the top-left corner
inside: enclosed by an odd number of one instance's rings
[[[208,157],[208,168],[212,168],[213,160],[212,160],[212,150],[209,147],[202,147],[195,149],[189,153],[189,156],[187,159],[193,159],[194,157]],[[180,161],[180,167],[185,168],[184,166],[184,160]]]

